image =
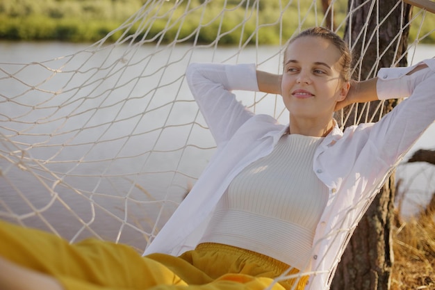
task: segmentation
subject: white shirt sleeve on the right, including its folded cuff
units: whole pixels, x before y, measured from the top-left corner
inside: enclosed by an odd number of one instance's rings
[[[410,75],[415,66],[379,72],[381,97],[407,97],[370,131],[370,142],[388,166],[400,160],[435,120],[435,59],[424,63],[427,68]]]

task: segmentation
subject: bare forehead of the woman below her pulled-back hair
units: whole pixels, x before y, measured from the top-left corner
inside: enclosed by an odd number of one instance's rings
[[[284,54],[284,63],[297,61],[304,63],[338,63],[341,54],[329,40],[315,36],[297,38],[288,45]]]

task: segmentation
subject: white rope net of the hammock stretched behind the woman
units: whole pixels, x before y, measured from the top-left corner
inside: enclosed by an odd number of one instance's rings
[[[72,242],[95,236],[142,251],[215,148],[186,85],[187,65],[255,62],[280,72],[286,40],[325,25],[320,1],[307,2],[146,1],[86,49],[38,63],[0,63],[0,218]],[[347,1],[330,2],[343,35],[360,7],[346,13]],[[366,3],[372,13],[381,5]],[[403,5],[397,1],[396,7]],[[260,22],[258,13],[268,9],[281,13]],[[229,27],[226,20],[237,17],[238,24]],[[397,38],[407,26],[418,31],[405,51],[409,64],[415,63],[419,42],[434,33],[421,33],[427,17],[433,15],[414,9],[411,23],[398,29]],[[195,29],[186,33],[183,26],[192,22]],[[151,35],[154,26],[161,31]],[[261,44],[271,30],[279,31],[279,43]],[[120,37],[108,43],[114,33]],[[369,41],[377,35],[365,30],[359,37]],[[226,45],[229,38],[237,45]],[[372,75],[382,54],[373,60]],[[279,97],[238,95],[256,113],[286,123]],[[361,113],[356,122],[371,118]]]

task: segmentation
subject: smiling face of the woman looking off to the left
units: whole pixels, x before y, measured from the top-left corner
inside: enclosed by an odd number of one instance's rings
[[[339,61],[340,51],[323,38],[304,36],[287,47],[281,95],[290,118],[332,118],[349,90]]]

